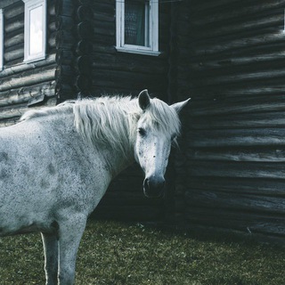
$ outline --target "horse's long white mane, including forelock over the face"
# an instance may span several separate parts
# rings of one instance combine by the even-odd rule
[[[52,108],[30,110],[21,120],[72,113],[77,132],[93,143],[109,143],[127,154],[134,147],[137,121],[144,119],[151,128],[179,134],[180,120],[176,111],[159,99],[151,99],[150,107],[142,111],[137,98],[103,96],[63,102]]]

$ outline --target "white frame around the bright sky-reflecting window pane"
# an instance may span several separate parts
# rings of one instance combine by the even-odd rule
[[[46,0],[22,0],[25,3],[25,48],[24,48],[24,62],[41,61],[45,59],[46,49]],[[30,30],[30,12],[37,7],[43,7],[42,24],[43,24],[43,50],[40,53],[29,53],[29,30]]]

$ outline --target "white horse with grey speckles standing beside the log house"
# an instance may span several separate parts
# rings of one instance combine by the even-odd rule
[[[73,284],[87,216],[124,168],[140,164],[159,196],[178,112],[151,99],[102,97],[28,111],[0,129],[0,236],[41,232],[46,284]]]

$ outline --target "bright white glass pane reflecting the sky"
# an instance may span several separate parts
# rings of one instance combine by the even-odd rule
[[[43,37],[43,6],[39,6],[29,12],[29,55],[43,52]]]

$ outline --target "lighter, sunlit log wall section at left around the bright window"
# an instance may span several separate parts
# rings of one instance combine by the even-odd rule
[[[4,69],[0,71],[0,126],[14,124],[37,103],[55,104],[55,13],[47,3],[47,56],[43,61],[24,63],[24,3],[3,1]],[[2,35],[1,35],[2,36]]]

